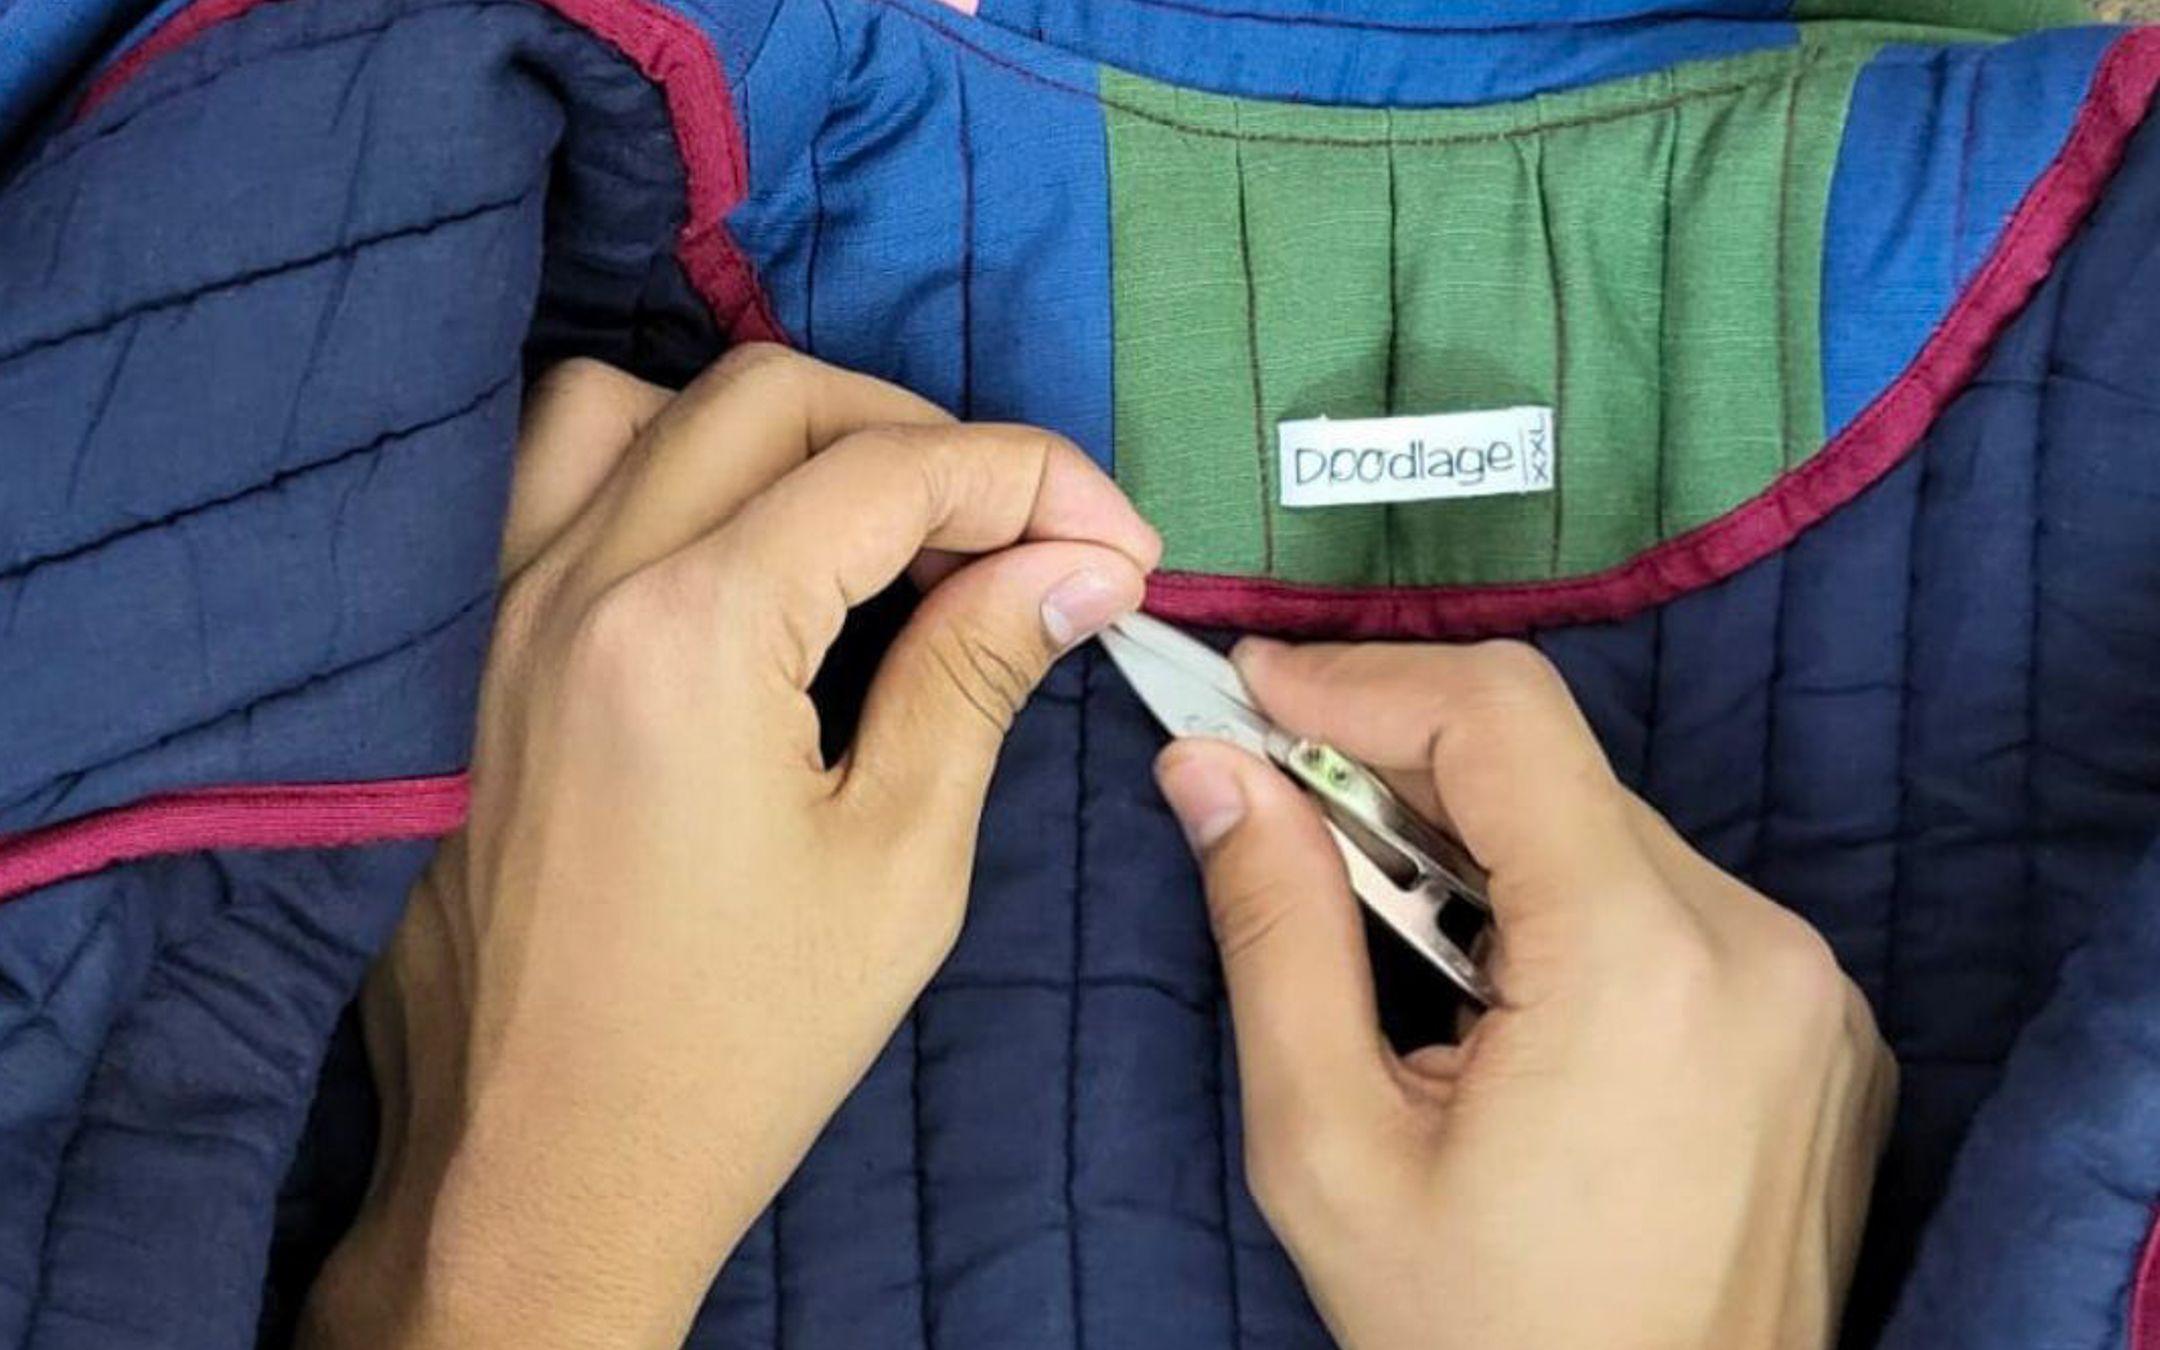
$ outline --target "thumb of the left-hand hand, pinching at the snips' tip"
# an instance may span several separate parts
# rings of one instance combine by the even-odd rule
[[[1140,568],[1104,544],[1017,544],[940,581],[870,680],[847,788],[963,810],[972,827],[1004,732],[1050,663],[1138,609]]]

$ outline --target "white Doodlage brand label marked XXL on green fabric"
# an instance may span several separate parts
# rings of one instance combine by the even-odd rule
[[[1283,505],[1365,505],[1551,492],[1551,408],[1434,417],[1313,417],[1277,426]]]

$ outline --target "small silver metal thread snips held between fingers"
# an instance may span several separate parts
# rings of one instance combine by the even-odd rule
[[[1274,726],[1238,667],[1197,637],[1134,613],[1099,642],[1173,737],[1229,741],[1290,773],[1326,816],[1356,899],[1458,989],[1495,1004],[1493,983],[1464,950],[1493,920],[1490,879],[1469,849],[1365,765]]]

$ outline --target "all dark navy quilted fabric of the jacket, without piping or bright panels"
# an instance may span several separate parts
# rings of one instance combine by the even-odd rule
[[[741,6],[730,73],[819,9]],[[721,348],[674,136],[544,6],[285,0],[6,171],[0,834],[464,762],[523,376]],[[875,207],[823,190],[836,240]],[[2125,1344],[2160,1186],[2154,296],[2160,127],[1884,482],[1719,585],[1536,635],[1622,775],[1821,924],[1901,1054],[1853,1344]],[[816,313],[821,352],[883,333]],[[1000,413],[1050,397],[978,378]],[[1052,674],[959,950],[691,1344],[1326,1344],[1242,1184],[1156,747],[1095,654]],[[367,1169],[339,1017],[423,858],[192,853],[0,907],[0,1344],[289,1326]]]

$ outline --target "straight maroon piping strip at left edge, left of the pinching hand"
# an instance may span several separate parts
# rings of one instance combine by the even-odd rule
[[[464,823],[469,797],[464,773],[145,797],[78,821],[0,834],[0,901],[156,853],[434,838]]]

